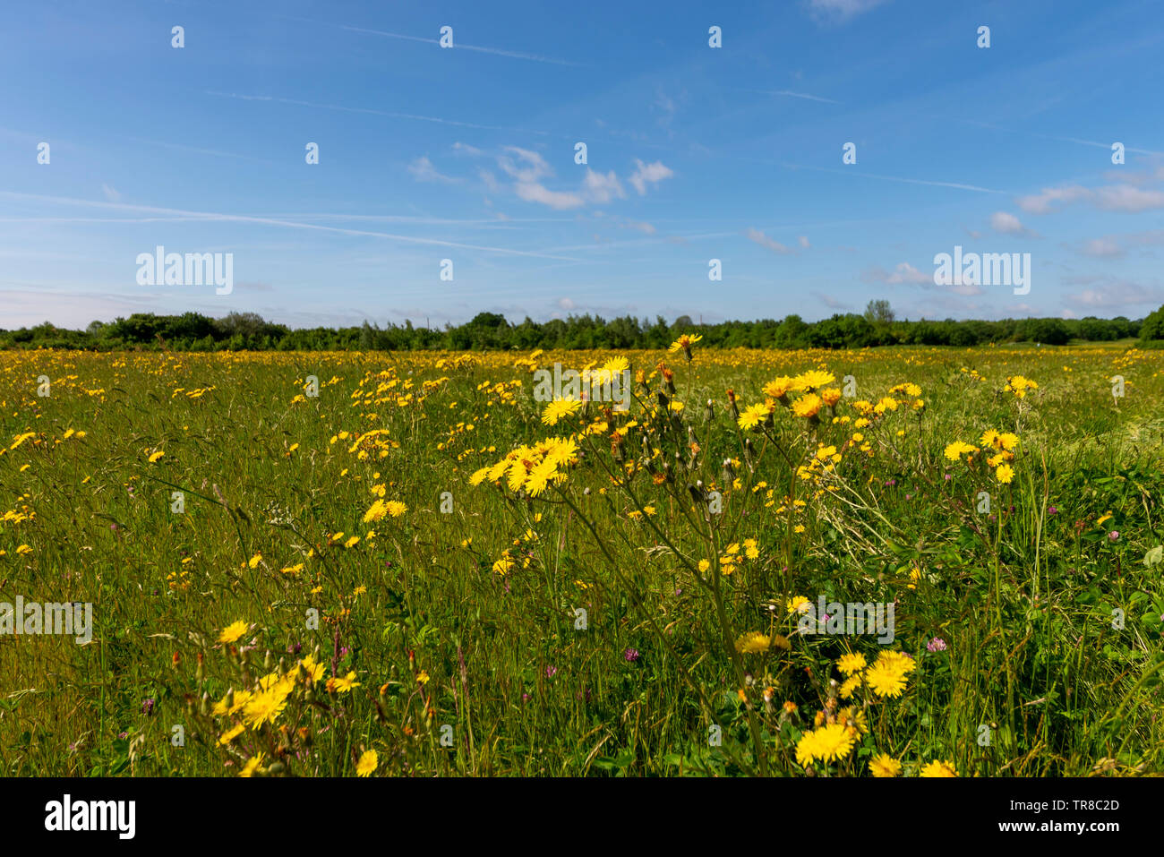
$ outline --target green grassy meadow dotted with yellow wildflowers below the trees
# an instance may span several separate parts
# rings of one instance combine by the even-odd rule
[[[0,602],[92,604],[0,614],[0,763],[1158,772],[1162,396],[1122,346],[0,352]]]

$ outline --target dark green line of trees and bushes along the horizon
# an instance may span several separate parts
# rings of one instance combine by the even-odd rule
[[[688,316],[652,323],[623,316],[610,320],[580,314],[512,324],[494,312],[442,328],[416,327],[412,321],[381,327],[364,321],[354,327],[292,330],[264,320],[253,312],[232,312],[210,318],[197,312],[180,316],[134,313],[114,321],[93,321],[84,331],[65,330],[45,321],[35,327],[0,330],[0,348],[85,348],[215,350],[504,350],[533,348],[666,348],[680,333],[697,333],[705,348],[866,348],[890,345],[968,347],[988,342],[1115,341],[1140,338],[1164,345],[1164,307],[1144,319],[1022,318],[943,321],[897,319],[888,302],[871,300],[861,314],[835,314],[819,321],[800,316],[782,320],[721,321],[700,324]]]

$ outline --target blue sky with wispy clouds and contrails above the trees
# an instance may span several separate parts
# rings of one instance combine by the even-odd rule
[[[47,1],[6,19],[0,327],[1164,303],[1158,0]],[[233,254],[234,290],[139,285],[158,245]],[[954,246],[1031,254],[1030,292],[935,285]]]

